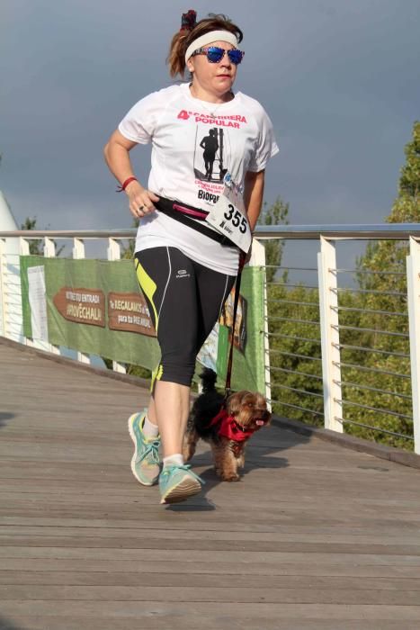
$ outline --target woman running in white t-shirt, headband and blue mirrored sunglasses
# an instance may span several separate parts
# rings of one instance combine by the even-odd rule
[[[202,480],[182,455],[195,359],[234,284],[239,252],[261,211],[265,166],[279,150],[262,105],[233,91],[242,39],[224,15],[196,23],[194,11],[183,14],[168,65],[171,76],[187,71],[189,79],[141,98],[104,148],[140,220],[135,264],[161,349],[148,408],[129,419],[131,470],[143,485],[159,482],[161,503],[201,491]],[[210,162],[207,177],[198,173],[201,139],[217,138],[210,130],[222,130],[223,181],[209,181]],[[151,170],[142,185],[130,151],[149,142]],[[229,191],[243,203],[233,203]]]

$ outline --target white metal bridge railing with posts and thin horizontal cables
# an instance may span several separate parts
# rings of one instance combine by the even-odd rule
[[[22,336],[19,256],[29,253],[32,239],[43,240],[48,257],[55,255],[55,240],[70,239],[78,258],[85,257],[85,242],[105,240],[106,257],[116,260],[121,241],[134,237],[134,229],[0,232],[0,334],[59,351]],[[266,239],[317,241],[316,264],[265,266]],[[352,240],[401,241],[409,247],[407,267],[340,268],[337,248]],[[337,432],[414,446],[420,454],[420,224],[258,226],[255,241],[251,263],[275,272],[265,285],[261,330],[274,410]],[[19,243],[14,251],[7,250],[11,242]],[[305,274],[305,282],[289,279],[296,273]],[[343,286],[348,276],[353,284]],[[378,278],[386,280],[380,288]],[[90,361],[82,353],[77,358]],[[125,369],[115,362],[113,368]]]

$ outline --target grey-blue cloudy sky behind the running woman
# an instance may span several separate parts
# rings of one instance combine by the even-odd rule
[[[165,58],[189,8],[244,31],[236,88],[264,105],[281,148],[265,201],[289,202],[291,224],[382,222],[420,119],[420,0],[4,0],[0,189],[18,224],[131,226],[103,145],[171,84]],[[131,155],[145,182],[149,149]]]

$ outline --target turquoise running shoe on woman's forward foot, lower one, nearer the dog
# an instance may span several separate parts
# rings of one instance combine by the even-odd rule
[[[179,503],[198,494],[204,481],[190,470],[189,464],[169,464],[159,477],[161,503]]]

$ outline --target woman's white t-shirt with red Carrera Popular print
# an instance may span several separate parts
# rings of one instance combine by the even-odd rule
[[[187,83],[142,98],[119,130],[133,142],[152,143],[150,191],[203,210],[218,201],[226,173],[243,190],[246,172],[263,170],[279,151],[272,122],[255,99],[237,92],[228,103],[208,103],[192,97]],[[237,247],[222,246],[155,211],[140,220],[136,251],[162,246],[237,275]]]

